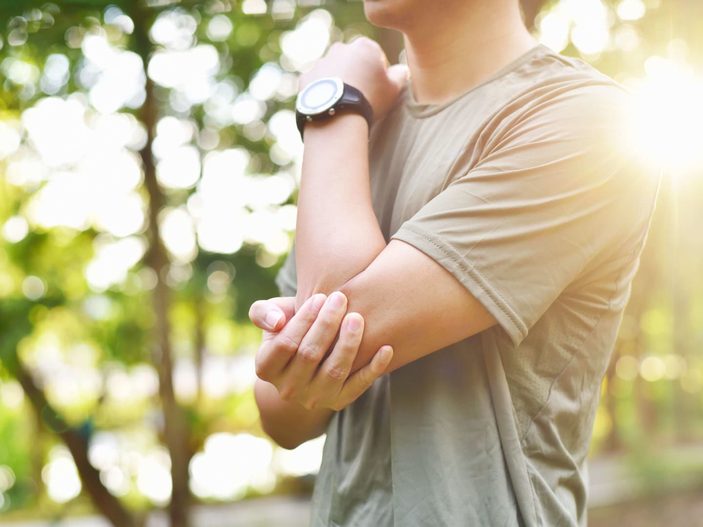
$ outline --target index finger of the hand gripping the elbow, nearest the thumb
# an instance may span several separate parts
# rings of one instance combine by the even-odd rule
[[[325,302],[325,295],[314,294],[307,299],[283,330],[270,340],[264,340],[254,360],[257,375],[264,381],[275,382],[295,355],[303,337],[317,318]],[[276,386],[278,387],[278,386]]]

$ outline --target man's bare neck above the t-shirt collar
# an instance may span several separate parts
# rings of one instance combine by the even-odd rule
[[[517,2],[516,2],[517,4]],[[423,23],[405,32],[413,96],[443,103],[477,86],[536,46],[515,8],[470,2],[451,25]],[[426,21],[425,21],[426,22]]]

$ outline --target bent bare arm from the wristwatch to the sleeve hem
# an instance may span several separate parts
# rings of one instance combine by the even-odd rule
[[[496,323],[448,271],[415,247],[386,244],[370,197],[368,130],[341,115],[305,127],[298,198],[296,304],[340,290],[366,321],[352,371],[379,346],[395,350],[387,372]]]

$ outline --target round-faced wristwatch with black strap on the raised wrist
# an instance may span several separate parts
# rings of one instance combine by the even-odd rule
[[[295,121],[300,137],[306,122],[328,119],[340,110],[361,114],[370,130],[373,110],[363,93],[354,86],[345,84],[339,77],[325,77],[306,86],[295,102]]]

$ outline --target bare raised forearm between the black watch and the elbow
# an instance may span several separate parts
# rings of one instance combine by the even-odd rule
[[[386,247],[368,180],[368,126],[338,115],[305,126],[296,230],[297,306],[330,294]]]

